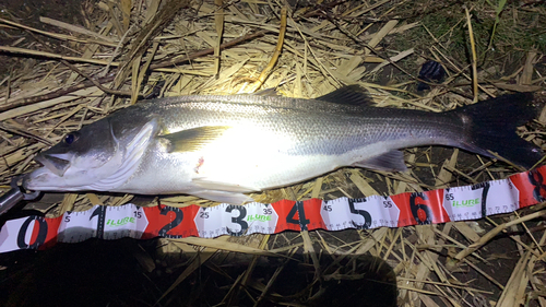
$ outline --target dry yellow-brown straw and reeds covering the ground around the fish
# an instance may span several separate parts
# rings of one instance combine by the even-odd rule
[[[50,25],[49,31],[29,27],[15,19],[0,19],[5,31],[32,33],[10,46],[0,46],[4,55],[23,56],[0,80],[0,180],[4,188],[12,176],[35,168],[34,155],[59,142],[64,133],[153,91],[161,96],[177,96],[276,87],[285,96],[317,97],[342,85],[360,84],[378,106],[440,111],[497,96],[506,90],[546,88],[546,43],[539,40],[544,25],[543,34],[532,36],[537,40],[531,46],[536,48],[519,49],[499,37],[510,20],[521,27],[541,26],[536,20],[544,21],[546,11],[532,1],[502,8],[494,42],[499,42],[496,48],[508,54],[498,56],[490,51],[492,56],[487,61],[479,54],[484,48],[479,33],[474,39],[471,24],[480,22],[483,26],[495,21],[496,8],[488,2],[466,3],[466,8],[426,1],[416,1],[413,7],[407,1],[317,1],[306,7],[295,7],[293,2],[298,1],[288,1],[292,5],[282,1],[159,2],[86,3],[82,7],[87,16],[83,26],[40,19]],[[424,23],[434,14],[449,14],[446,21],[456,22],[441,24],[451,29],[437,35],[430,24]],[[426,36],[415,36],[415,31],[423,31]],[[466,33],[467,49],[456,46],[458,31]],[[502,35],[510,37],[509,33]],[[48,44],[29,38],[33,36],[55,38],[55,44],[62,48],[52,50]],[[407,42],[400,43],[404,37]],[[451,48],[465,49],[468,57],[456,56]],[[447,68],[448,78],[422,96],[415,93],[417,69],[430,58]],[[521,129],[527,141],[543,145],[545,114]],[[273,202],[394,194],[506,178],[515,172],[507,164],[438,147],[406,150],[406,161],[412,166],[406,174],[341,169],[252,197]],[[97,203],[117,205],[131,199],[132,196],[70,193],[35,208],[58,215],[67,210],[86,210]],[[188,196],[161,201],[175,206],[214,205]],[[536,206],[478,222],[405,228],[161,239],[152,258],[167,259],[167,267],[173,265],[170,270],[179,275],[157,299],[162,306],[186,302],[176,298],[180,295],[175,291],[179,284],[195,282],[191,276],[205,269],[229,275],[233,272],[222,265],[232,261],[246,267],[230,276],[232,284],[217,303],[321,306],[324,302],[339,302],[328,300],[328,288],[335,288],[331,281],[353,287],[346,282],[365,280],[369,272],[382,272],[373,279],[388,283],[388,274],[381,271],[383,262],[377,260],[382,259],[396,275],[399,306],[546,306],[546,233],[536,220],[544,215],[541,210]],[[174,255],[186,256],[183,269],[177,270]],[[263,255],[283,257],[272,264],[275,270],[268,278],[260,279],[257,271]],[[376,260],[364,259],[363,255]],[[286,282],[276,280],[289,265],[286,257],[297,258],[298,268],[310,276],[309,287],[304,286],[292,296],[281,295],[274,286],[275,282]],[[141,258],[141,263],[151,261],[150,256]],[[155,265],[146,268],[155,270]],[[341,290],[335,288],[335,293]]]

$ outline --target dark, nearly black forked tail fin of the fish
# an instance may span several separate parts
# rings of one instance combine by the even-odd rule
[[[533,94],[518,93],[487,99],[452,111],[465,126],[464,147],[485,156],[494,152],[515,165],[531,168],[544,152],[515,133],[538,113]],[[490,152],[489,152],[490,151]]]

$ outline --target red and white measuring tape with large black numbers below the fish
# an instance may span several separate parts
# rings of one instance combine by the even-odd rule
[[[88,238],[213,238],[477,220],[545,201],[545,177],[546,166],[542,166],[502,180],[390,197],[282,200],[245,205],[223,203],[212,208],[194,204],[185,208],[141,208],[132,203],[95,205],[87,211],[69,211],[55,219],[32,215],[7,221],[0,231],[0,252],[46,249],[56,243],[79,243]]]

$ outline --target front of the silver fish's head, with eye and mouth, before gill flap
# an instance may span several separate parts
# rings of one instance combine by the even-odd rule
[[[35,161],[43,167],[31,173],[32,190],[76,190],[107,178],[121,165],[123,152],[108,118],[70,132]]]

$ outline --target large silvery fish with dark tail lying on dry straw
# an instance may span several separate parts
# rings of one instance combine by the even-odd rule
[[[537,116],[518,93],[443,113],[375,107],[359,86],[314,99],[189,95],[139,102],[35,157],[35,191],[191,194],[225,203],[341,167],[404,172],[401,150],[424,145],[499,155],[530,168],[544,152],[517,134]]]

